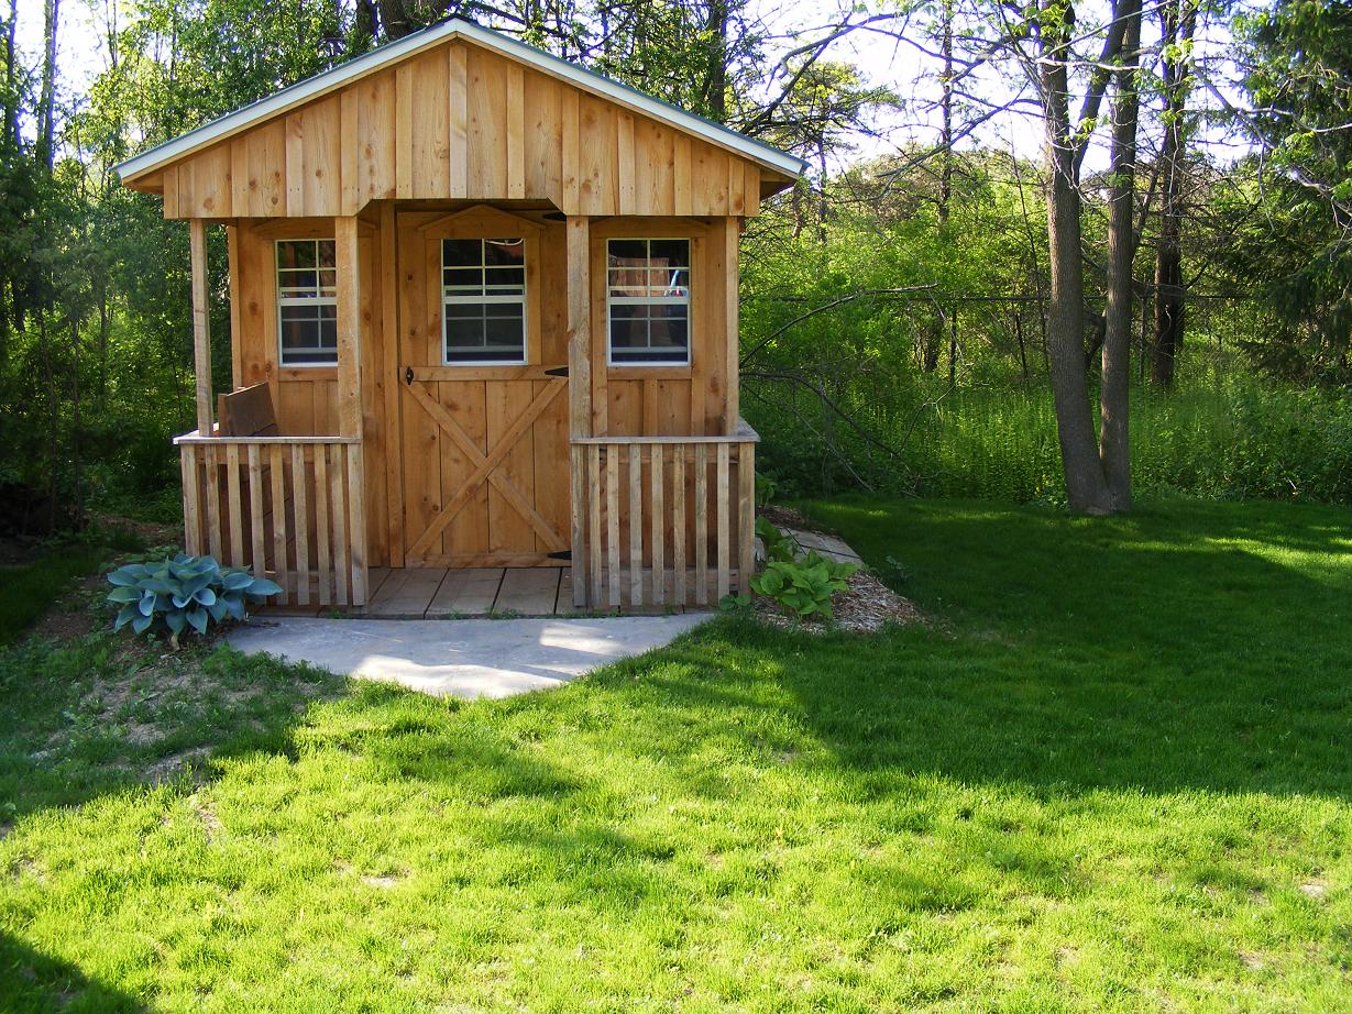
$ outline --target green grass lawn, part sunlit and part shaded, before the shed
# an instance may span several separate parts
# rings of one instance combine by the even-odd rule
[[[475,704],[0,653],[0,1009],[1352,1009],[1345,510],[813,510],[936,627]]]

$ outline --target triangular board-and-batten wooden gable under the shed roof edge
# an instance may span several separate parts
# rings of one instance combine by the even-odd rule
[[[761,177],[726,149],[453,39],[131,185],[162,192],[170,219],[354,215],[391,199],[717,218],[757,214]],[[767,170],[765,184],[781,181]]]

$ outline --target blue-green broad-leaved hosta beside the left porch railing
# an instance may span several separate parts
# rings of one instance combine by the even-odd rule
[[[108,575],[108,602],[119,606],[112,629],[128,623],[138,634],[162,626],[174,644],[192,627],[207,633],[211,623],[243,619],[250,604],[281,591],[266,577],[254,577],[242,566],[222,566],[211,556],[173,557],[127,564]]]

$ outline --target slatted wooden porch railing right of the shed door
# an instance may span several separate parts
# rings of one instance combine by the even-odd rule
[[[726,437],[573,438],[576,604],[707,606],[745,589],[758,439],[745,420]]]

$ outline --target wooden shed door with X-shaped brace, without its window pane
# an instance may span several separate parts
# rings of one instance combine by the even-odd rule
[[[566,565],[566,358],[545,319],[545,233],[492,208],[400,214],[399,291],[407,566]],[[448,364],[445,239],[522,238],[526,362]]]

